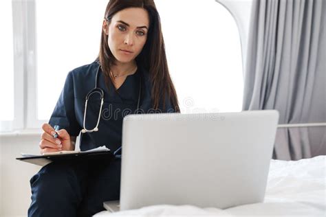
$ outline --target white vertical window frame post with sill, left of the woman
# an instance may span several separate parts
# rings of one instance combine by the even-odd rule
[[[9,124],[6,126],[5,130],[40,128],[47,120],[37,118],[35,1],[12,1],[12,14],[14,120],[11,126]]]

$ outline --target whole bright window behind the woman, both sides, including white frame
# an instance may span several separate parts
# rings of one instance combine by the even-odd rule
[[[108,0],[0,1],[0,131],[40,128],[67,73],[98,56]],[[241,111],[239,30],[214,0],[155,0],[182,113]]]

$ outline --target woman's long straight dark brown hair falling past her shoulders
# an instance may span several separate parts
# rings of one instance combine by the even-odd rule
[[[110,0],[105,10],[107,21],[111,21],[112,16],[125,8],[144,8],[149,13],[149,32],[142,52],[135,58],[137,65],[144,67],[149,72],[152,90],[151,99],[153,109],[158,109],[160,102],[165,108],[165,99],[171,100],[173,109],[180,112],[177,102],[177,93],[171,80],[169,68],[166,60],[163,34],[161,30],[160,15],[157,12],[153,0]],[[100,53],[98,59],[105,77],[112,80],[110,67],[115,64],[116,58],[109,49],[107,35],[102,30],[100,41]]]

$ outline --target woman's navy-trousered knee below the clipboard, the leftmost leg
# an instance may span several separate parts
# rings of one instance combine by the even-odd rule
[[[30,179],[32,203],[28,215],[76,216],[86,176],[87,170],[80,165],[64,162],[45,165]]]

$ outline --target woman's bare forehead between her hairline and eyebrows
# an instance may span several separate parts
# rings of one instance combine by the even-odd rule
[[[116,21],[124,21],[131,27],[138,27],[146,25],[149,26],[149,14],[143,8],[126,8],[120,10],[112,17],[113,23]]]

